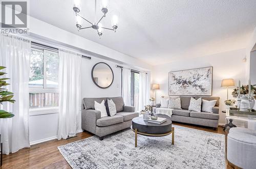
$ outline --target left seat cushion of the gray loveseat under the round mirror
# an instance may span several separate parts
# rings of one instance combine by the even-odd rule
[[[107,116],[107,117],[98,119],[96,121],[96,125],[99,127],[104,127],[104,126],[110,126],[110,125],[122,123],[122,122],[123,122],[123,117],[119,115],[115,115],[115,116]]]

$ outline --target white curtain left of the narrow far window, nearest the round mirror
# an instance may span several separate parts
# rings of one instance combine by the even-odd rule
[[[122,97],[124,101],[124,105],[131,105],[131,70],[123,69],[123,81],[122,81]]]

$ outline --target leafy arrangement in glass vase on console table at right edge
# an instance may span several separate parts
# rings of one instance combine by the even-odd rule
[[[234,98],[238,98],[238,93],[239,93],[239,88],[235,88],[232,92],[232,96]],[[242,85],[242,87],[240,87],[240,93],[241,93],[241,105],[240,108],[241,109],[247,109],[249,107],[249,103],[248,103],[248,93],[249,93],[249,86],[248,85]],[[256,99],[256,86],[255,85],[251,85],[251,96],[252,96],[252,102],[251,102],[251,107],[254,106],[255,104],[255,99]]]

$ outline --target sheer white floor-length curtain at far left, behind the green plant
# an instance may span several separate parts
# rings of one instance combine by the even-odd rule
[[[6,89],[14,93],[13,99],[16,100],[14,104],[3,102],[0,107],[15,115],[10,119],[0,119],[4,154],[30,147],[28,125],[30,46],[29,40],[0,35],[0,66],[6,67],[1,71],[8,73],[4,77],[10,78],[6,81],[11,85],[6,86]]]

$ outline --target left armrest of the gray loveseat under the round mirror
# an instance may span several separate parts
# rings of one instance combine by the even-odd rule
[[[83,109],[81,125],[83,130],[91,133],[96,133],[96,121],[101,118],[101,113],[98,110]]]

